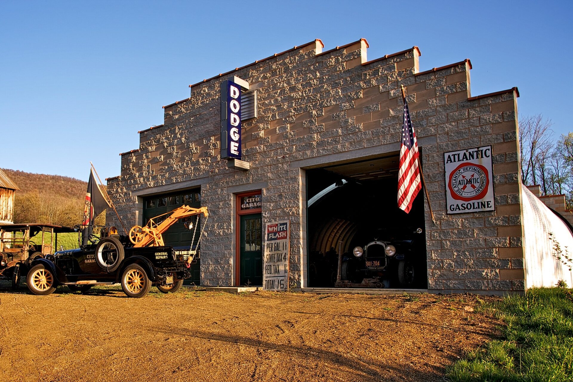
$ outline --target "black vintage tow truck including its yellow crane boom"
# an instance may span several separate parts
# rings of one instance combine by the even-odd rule
[[[168,216],[167,216],[168,215]],[[197,215],[209,216],[206,207],[182,206],[150,219],[146,226],[134,226],[128,235],[116,229],[104,230],[101,237],[89,235],[89,243],[78,249],[57,251],[32,261],[28,288],[37,295],[47,295],[58,285],[74,292],[85,292],[94,285],[121,283],[129,297],[145,296],[151,286],[160,292],[176,292],[185,278],[191,277],[190,264],[197,253],[193,243],[189,250],[175,250],[163,245],[162,234],[177,220]],[[195,232],[198,224],[195,224]],[[193,225],[186,225],[193,229]],[[203,225],[199,240],[203,234]],[[194,232],[194,236],[195,236]]]

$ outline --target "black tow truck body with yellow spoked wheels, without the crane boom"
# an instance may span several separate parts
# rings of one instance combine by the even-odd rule
[[[34,260],[26,279],[30,292],[47,295],[57,285],[85,292],[93,285],[121,283],[127,296],[143,297],[151,286],[163,293],[176,292],[183,279],[191,276],[186,262],[190,251],[170,246],[134,248],[127,237],[119,235],[90,239],[90,244],[79,249]]]

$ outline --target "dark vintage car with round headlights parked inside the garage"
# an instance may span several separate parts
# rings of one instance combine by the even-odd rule
[[[421,254],[421,238],[415,235],[422,232],[418,228],[407,239],[374,239],[365,246],[356,246],[352,254],[343,257],[342,281],[337,286],[388,288],[397,283],[401,288],[412,288],[416,282],[415,264]]]

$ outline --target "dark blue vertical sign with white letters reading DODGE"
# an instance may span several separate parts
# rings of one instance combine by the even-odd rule
[[[241,86],[221,83],[221,159],[241,159]]]

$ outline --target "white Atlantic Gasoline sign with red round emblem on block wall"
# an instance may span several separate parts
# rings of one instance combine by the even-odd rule
[[[492,147],[444,153],[448,214],[495,210]]]

